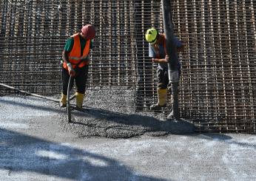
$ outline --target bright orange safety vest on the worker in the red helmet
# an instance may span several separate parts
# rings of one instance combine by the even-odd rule
[[[79,33],[75,33],[74,35],[71,35],[70,37],[74,38],[74,44],[71,52],[68,53],[68,58],[70,63],[73,66],[73,69],[75,69],[75,66],[78,65],[79,68],[90,64],[88,61],[82,61],[81,62],[81,44],[80,44],[80,38],[79,38]],[[87,57],[90,51],[90,39],[87,40],[87,43],[85,44],[84,50],[83,50],[83,55],[82,57]],[[67,63],[63,63],[64,69],[67,69]]]

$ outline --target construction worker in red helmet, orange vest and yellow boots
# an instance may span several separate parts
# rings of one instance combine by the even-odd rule
[[[63,67],[60,106],[67,106],[67,86],[70,76],[73,77],[70,89],[76,85],[75,97],[76,107],[81,109],[84,100],[85,86],[87,82],[88,67],[90,64],[89,53],[92,49],[92,39],[95,37],[95,28],[87,24],[81,28],[79,33],[71,35],[62,52]]]

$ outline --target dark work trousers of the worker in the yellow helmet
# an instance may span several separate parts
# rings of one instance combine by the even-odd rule
[[[164,69],[157,68],[157,75],[158,75],[158,89],[169,89],[169,92],[172,94],[172,85],[169,83],[168,77],[168,67]],[[181,68],[178,69],[178,76],[181,75]]]

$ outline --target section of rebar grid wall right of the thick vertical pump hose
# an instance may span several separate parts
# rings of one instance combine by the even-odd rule
[[[175,1],[178,35],[186,41],[183,117],[221,132],[255,132],[255,6],[248,0]]]

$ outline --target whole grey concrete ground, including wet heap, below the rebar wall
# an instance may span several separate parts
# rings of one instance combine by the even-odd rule
[[[87,93],[74,123],[58,103],[0,97],[0,180],[256,180],[255,134],[135,112],[129,89]]]

